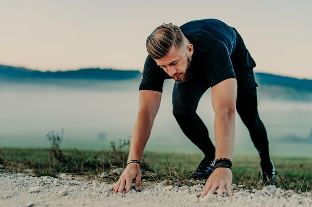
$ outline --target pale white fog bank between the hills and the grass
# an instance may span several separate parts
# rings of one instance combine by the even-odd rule
[[[64,130],[62,148],[110,148],[131,136],[138,111],[140,79],[131,81],[28,80],[0,83],[0,147],[49,147],[46,135]],[[181,132],[172,115],[172,80],[166,80],[161,105],[146,150],[200,153]],[[266,91],[267,93],[267,91]],[[266,126],[271,154],[310,156],[312,104],[263,97],[258,109]],[[210,89],[197,113],[214,142]],[[304,141],[283,141],[293,135]],[[256,155],[246,127],[236,116],[235,154]],[[306,139],[305,139],[306,138]]]

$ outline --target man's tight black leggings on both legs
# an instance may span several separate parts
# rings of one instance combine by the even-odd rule
[[[260,156],[269,159],[269,142],[266,129],[258,114],[257,89],[253,69],[236,72],[236,109],[249,130],[250,137]],[[181,130],[206,156],[214,157],[215,147],[208,130],[196,113],[198,102],[210,87],[207,78],[192,78],[175,83],[172,92],[173,115]],[[262,157],[262,156],[261,156]]]

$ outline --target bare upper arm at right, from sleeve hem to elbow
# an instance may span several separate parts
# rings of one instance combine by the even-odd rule
[[[237,82],[235,78],[225,79],[211,88],[211,102],[215,113],[235,111]]]

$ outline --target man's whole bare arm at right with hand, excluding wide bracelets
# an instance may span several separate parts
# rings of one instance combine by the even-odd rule
[[[237,83],[235,78],[223,80],[211,89],[212,107],[215,112],[214,134],[216,140],[216,159],[233,159],[235,137],[235,105]],[[208,178],[202,196],[213,194],[219,189],[218,195],[227,187],[231,195],[232,171],[229,168],[216,168]]]

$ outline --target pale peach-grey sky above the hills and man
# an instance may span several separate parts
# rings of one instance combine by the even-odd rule
[[[143,70],[162,23],[235,27],[256,72],[312,79],[311,0],[0,0],[0,65],[42,71]]]

